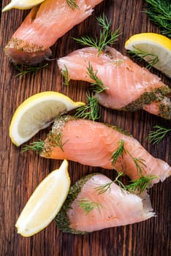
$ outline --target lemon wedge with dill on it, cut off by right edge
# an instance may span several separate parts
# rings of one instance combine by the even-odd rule
[[[171,39],[156,33],[134,34],[126,41],[125,48],[149,53],[143,58],[149,64],[156,56],[157,61],[153,67],[171,78]]]

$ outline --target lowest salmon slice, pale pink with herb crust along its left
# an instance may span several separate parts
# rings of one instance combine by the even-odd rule
[[[77,181],[70,188],[64,206],[56,216],[59,229],[67,233],[85,234],[142,222],[155,215],[146,192],[142,199],[113,183],[109,190],[99,194],[98,188],[110,182],[110,178],[100,173]]]

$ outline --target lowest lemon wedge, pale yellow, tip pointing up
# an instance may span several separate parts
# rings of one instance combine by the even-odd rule
[[[34,190],[15,224],[18,233],[33,236],[47,227],[60,211],[69,187],[68,162],[64,160]]]

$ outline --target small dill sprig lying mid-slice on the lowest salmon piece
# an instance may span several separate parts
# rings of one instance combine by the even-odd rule
[[[87,198],[82,198],[77,200],[78,206],[83,209],[83,211],[89,212],[94,210],[94,208],[97,208],[100,211],[100,208],[102,208],[102,204],[98,202],[91,201]]]

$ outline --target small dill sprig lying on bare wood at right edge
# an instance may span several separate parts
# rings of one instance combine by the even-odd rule
[[[152,144],[158,144],[168,132],[171,132],[171,129],[167,129],[159,125],[156,125],[153,128],[156,130],[149,132],[148,136],[146,137],[146,140],[149,140]]]

